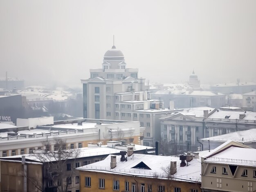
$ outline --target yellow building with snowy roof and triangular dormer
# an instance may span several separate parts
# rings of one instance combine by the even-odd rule
[[[188,164],[183,166],[178,157],[120,153],[121,156],[109,155],[103,161],[77,168],[80,192],[201,191],[199,159],[183,161],[183,165]]]

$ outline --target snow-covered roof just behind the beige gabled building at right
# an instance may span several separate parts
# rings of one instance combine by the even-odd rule
[[[256,129],[232,132],[224,135],[202,138],[200,141],[237,141],[240,143],[256,141]]]

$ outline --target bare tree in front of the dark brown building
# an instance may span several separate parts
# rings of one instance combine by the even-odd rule
[[[50,143],[48,141],[43,142],[43,145],[46,148],[44,153],[31,155],[44,163],[47,181],[53,183],[58,192],[67,192],[72,176],[76,175],[72,164],[75,165],[80,150],[67,149],[65,140],[58,137],[54,138],[54,151],[49,150]]]

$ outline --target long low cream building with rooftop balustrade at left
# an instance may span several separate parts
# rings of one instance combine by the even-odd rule
[[[67,148],[87,147],[88,142],[123,140],[140,144],[140,127],[137,121],[114,121],[98,119],[76,119],[53,121],[53,117],[18,119],[18,127],[0,130],[0,156],[30,154],[34,149],[45,149],[43,142],[49,142],[54,150],[55,138],[65,140]]]

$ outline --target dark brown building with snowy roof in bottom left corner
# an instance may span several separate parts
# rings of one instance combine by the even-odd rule
[[[152,147],[124,145],[121,141],[110,141],[107,146],[101,146],[101,143],[89,143],[89,146],[79,150],[54,152],[34,150],[33,154],[2,157],[0,159],[1,190],[79,192],[81,180],[78,171],[74,168],[101,161],[109,154],[119,155],[121,150],[136,154],[154,152]],[[56,158],[59,156],[61,157]]]

